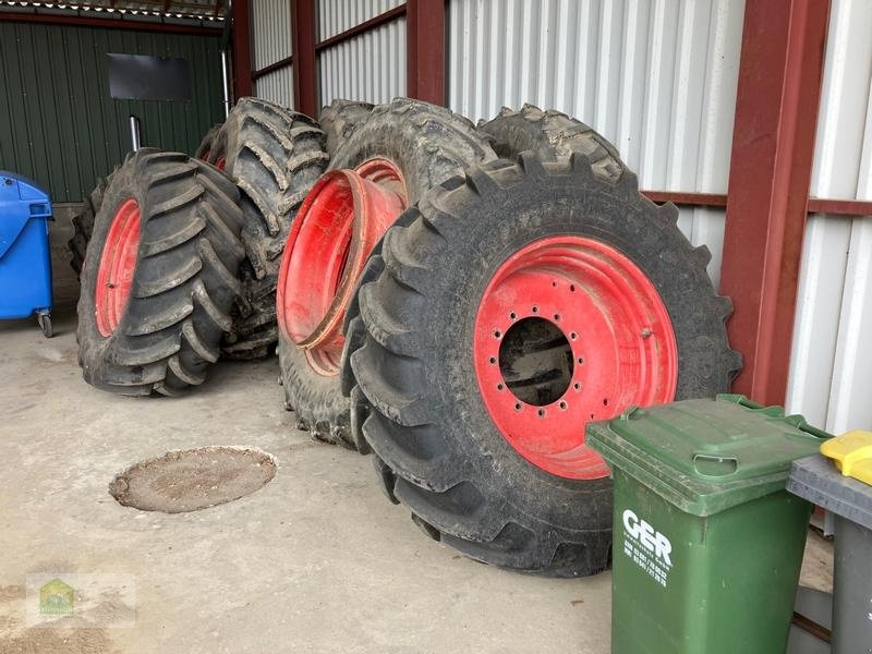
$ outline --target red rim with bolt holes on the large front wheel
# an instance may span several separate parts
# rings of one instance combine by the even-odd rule
[[[675,397],[678,347],[659,293],[593,239],[550,237],[516,252],[488,283],[474,334],[494,424],[524,459],[559,476],[608,475],[584,444],[589,421]]]

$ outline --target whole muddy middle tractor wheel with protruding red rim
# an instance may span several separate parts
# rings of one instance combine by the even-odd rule
[[[289,270],[301,270],[310,275],[312,270],[306,269],[306,262],[332,262],[341,259],[342,256],[351,263],[343,267],[342,281],[338,286],[327,279],[335,274],[322,271],[320,268],[318,269],[320,278],[313,277],[306,280],[301,274],[294,274],[288,275],[284,286],[281,280],[279,282],[281,379],[286,405],[296,412],[300,428],[311,431],[319,440],[354,447],[349,428],[349,402],[342,396],[339,377],[339,361],[343,347],[340,327],[348,304],[338,301],[342,298],[348,298],[350,301],[356,286],[356,275],[363,268],[370,250],[384,230],[393,223],[403,206],[414,205],[431,189],[461,174],[470,165],[495,158],[488,138],[469,120],[444,107],[407,98],[396,99],[373,109],[366,122],[339,145],[330,161],[332,172],[325,175],[325,178],[331,175],[332,179],[327,179],[324,185],[319,182],[319,186],[312,191],[306,201],[307,204],[312,203],[312,208],[304,207],[301,210],[301,221],[294,227],[290,240],[294,244],[289,241],[282,272],[287,267]],[[355,225],[366,222],[370,231],[360,238],[355,235],[356,240],[350,244],[349,232],[344,232],[347,234],[344,237],[339,233],[341,220],[338,222],[332,218],[332,214],[328,215],[318,208],[323,206],[328,207],[329,211],[344,213],[350,216],[348,225],[352,223],[351,217],[356,209],[351,206],[351,194],[341,189],[337,190],[339,182],[358,184],[358,193],[365,196],[361,204],[375,202],[373,197],[366,195],[368,193],[377,195],[378,203],[382,203],[379,206],[383,207],[380,210],[367,209],[365,221],[361,216],[356,217],[359,222]],[[346,193],[349,199],[341,209],[337,209],[334,204],[328,203],[328,197],[340,193]],[[358,197],[360,199],[361,196]],[[387,204],[392,208],[384,210]],[[324,226],[319,221],[323,221],[324,226],[329,226],[329,229],[337,230],[337,234],[328,240],[324,251],[305,250],[303,244],[313,242],[315,237],[322,233]],[[374,227],[375,223],[378,223],[380,229]],[[324,230],[326,229],[328,227],[324,227]],[[349,256],[347,252],[353,252],[354,256]],[[334,286],[330,286],[331,283]],[[329,287],[337,290],[335,295],[326,298],[323,312],[314,317],[301,318],[300,312],[296,311],[294,315],[294,311],[299,310],[301,304],[312,307],[316,303],[299,302],[294,299],[312,287]],[[310,338],[312,330],[302,329],[300,326],[316,325],[318,320],[322,320],[320,325],[332,320],[337,337],[322,339],[320,342],[324,344],[311,346],[314,342]]]

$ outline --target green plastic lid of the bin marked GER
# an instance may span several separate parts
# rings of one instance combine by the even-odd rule
[[[790,463],[831,437],[801,415],[735,395],[631,408],[586,434],[610,468],[694,516],[783,491]]]

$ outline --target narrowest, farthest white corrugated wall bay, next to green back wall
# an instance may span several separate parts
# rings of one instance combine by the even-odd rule
[[[250,4],[250,11],[254,70],[290,57],[290,0],[256,0]],[[293,107],[293,68],[287,65],[255,80],[254,94],[265,100]]]

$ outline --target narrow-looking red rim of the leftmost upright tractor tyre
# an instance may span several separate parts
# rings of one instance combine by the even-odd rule
[[[97,330],[111,336],[128,307],[140,251],[140,205],[129,197],[116,211],[97,269],[94,311]]]

